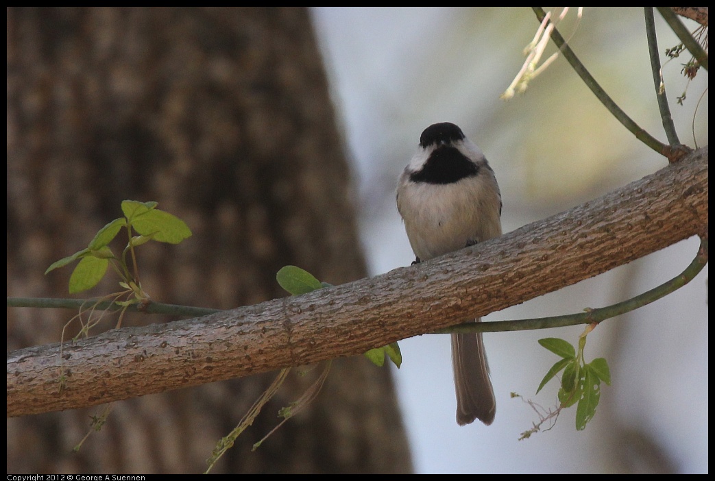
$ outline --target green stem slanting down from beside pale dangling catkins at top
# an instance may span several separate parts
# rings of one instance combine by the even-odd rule
[[[536,13],[536,17],[539,21],[542,21],[544,16],[546,16],[546,12],[544,12],[540,6],[532,6],[531,9],[533,9],[533,11]],[[606,94],[606,91],[604,91],[601,86],[598,85],[596,79],[594,79],[593,76],[588,72],[588,70],[586,70],[586,67],[581,64],[581,61],[578,60],[576,54],[574,54],[573,50],[571,50],[571,47],[566,44],[566,41],[563,39],[563,36],[558,33],[558,30],[556,28],[554,28],[551,32],[551,39],[553,39],[553,43],[556,44],[559,49],[561,49],[561,51],[563,52],[563,56],[566,57],[566,60],[569,64],[571,64],[571,67],[573,67],[578,76],[581,77],[581,79],[588,86],[588,88],[591,89],[594,95],[596,95],[596,98],[601,101],[601,104],[603,104],[603,106],[606,106],[606,109],[608,109],[608,111],[610,111],[611,114],[613,114],[613,116],[618,119],[618,122],[621,122],[621,124],[623,124],[623,126],[626,127],[628,131],[633,133],[633,135],[636,136],[636,139],[640,140],[651,149],[654,149],[654,151],[658,152],[659,154],[666,155],[669,152],[670,149],[666,148],[665,144],[659,142],[658,139],[651,136],[651,134],[646,132],[644,129],[641,129],[641,127],[639,127],[636,122],[633,122],[633,119],[626,115],[626,112],[621,110],[621,107],[619,107],[616,102],[614,102],[613,99],[611,99],[611,97]]]

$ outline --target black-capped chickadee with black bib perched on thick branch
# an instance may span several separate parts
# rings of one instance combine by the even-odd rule
[[[415,262],[501,235],[501,194],[494,171],[455,124],[427,127],[400,175],[398,211]],[[481,319],[475,319],[479,322]],[[494,420],[496,401],[482,334],[452,334],[457,422]]]

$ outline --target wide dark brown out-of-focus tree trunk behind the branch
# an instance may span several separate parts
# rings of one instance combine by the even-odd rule
[[[162,302],[230,308],[281,297],[275,272],[286,264],[332,284],[365,276],[305,9],[7,14],[9,296],[66,297],[71,267],[44,269],[120,217],[122,199],[155,200],[194,232],[139,249],[142,284]],[[73,314],[9,309],[8,350],[57,342]],[[122,325],[169,320],[136,314]],[[10,419],[8,472],[200,472],[272,377],[117,402],[76,455],[99,410]],[[334,362],[312,405],[251,452],[307,377],[289,378],[214,472],[411,470],[389,371],[362,357]]]

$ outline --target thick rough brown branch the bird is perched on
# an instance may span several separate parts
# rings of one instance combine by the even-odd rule
[[[365,352],[521,304],[708,226],[708,148],[477,246],[370,279],[7,357],[9,417],[75,409]],[[66,389],[58,392],[64,364]]]

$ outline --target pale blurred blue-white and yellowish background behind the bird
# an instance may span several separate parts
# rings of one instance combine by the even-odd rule
[[[598,104],[563,58],[511,101],[499,95],[523,62],[523,47],[538,23],[531,9],[319,8],[312,10],[325,55],[345,144],[358,187],[360,222],[372,274],[414,259],[395,208],[398,174],[420,133],[454,122],[478,144],[495,170],[509,232],[586,202],[666,165]],[[693,24],[686,24],[691,27]],[[656,12],[660,50],[676,41]],[[640,7],[585,9],[562,33],[593,76],[633,119],[665,141]],[[553,48],[550,50],[553,51]],[[664,66],[681,142],[694,146],[692,123],[706,91],[707,72],[686,88],[680,64]],[[708,96],[695,115],[696,140],[708,143]],[[603,307],[651,289],[679,274],[698,247],[689,239],[575,286],[490,314],[486,320],[523,319]],[[631,315],[606,322],[588,336],[586,355],[606,357],[613,386],[601,387],[601,405],[585,431],[574,412],[530,440],[521,432],[537,421],[518,392],[543,407],[556,389],[536,387],[557,358],[541,337],[576,342],[582,327],[548,332],[485,334],[495,392],[496,420],[458,427],[448,336],[400,342],[395,370],[415,469],[451,472],[623,472],[621,461],[648,459],[659,444],[678,472],[708,471],[708,325],[706,267],[694,282]],[[458,319],[455,319],[457,322]],[[552,389],[549,389],[549,388]],[[638,438],[641,439],[641,438]]]

